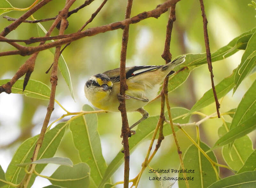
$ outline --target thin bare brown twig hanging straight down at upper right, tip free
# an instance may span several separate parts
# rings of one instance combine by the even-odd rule
[[[207,58],[207,63],[208,63],[208,69],[211,73],[211,81],[212,81],[212,91],[213,91],[213,95],[214,95],[214,99],[215,99],[215,103],[216,103],[216,110],[217,110],[217,114],[218,117],[220,118],[220,103],[218,101],[218,97],[216,94],[216,90],[215,90],[215,86],[214,86],[214,81],[213,81],[213,72],[212,72],[212,57],[211,57],[211,51],[210,51],[210,45],[209,45],[209,37],[208,37],[208,31],[207,31],[207,18],[206,18],[206,14],[204,11],[204,2],[203,0],[200,0],[200,5],[201,5],[201,11],[202,11],[202,17],[203,17],[203,24],[204,24],[204,43],[205,43],[205,48],[206,48],[206,58]]]

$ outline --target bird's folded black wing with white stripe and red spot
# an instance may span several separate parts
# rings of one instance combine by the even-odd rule
[[[162,66],[163,65],[146,65],[146,66],[125,67],[126,79],[132,78],[144,72],[154,71]],[[112,82],[119,82],[120,81],[119,73],[120,73],[120,68],[117,68],[117,69],[105,71],[102,74],[106,74]]]

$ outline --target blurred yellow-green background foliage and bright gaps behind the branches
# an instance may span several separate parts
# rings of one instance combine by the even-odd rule
[[[18,8],[30,6],[34,0],[9,0],[9,2]],[[149,11],[164,1],[134,1],[132,6],[132,15],[137,15],[143,11]],[[208,33],[210,40],[211,52],[216,51],[222,46],[228,44],[236,36],[255,27],[256,11],[247,4],[250,0],[205,0],[205,11],[208,19]],[[83,4],[84,1],[77,0],[71,9]],[[75,33],[90,17],[91,14],[102,3],[95,0],[89,6],[78,11],[68,18],[69,26],[65,31],[66,34]],[[37,11],[33,16],[36,19],[50,18],[56,15],[63,7],[63,0],[55,0],[45,5],[41,10]],[[109,0],[96,18],[87,28],[101,26],[108,23],[120,21],[124,19],[126,1]],[[169,12],[169,11],[168,11]],[[164,49],[166,24],[168,20],[168,12],[161,15],[158,19],[149,18],[142,20],[137,24],[130,25],[129,42],[127,51],[127,66],[133,65],[161,65],[164,60],[161,57]],[[5,13],[10,17],[19,18],[24,12],[12,11]],[[0,30],[11,22],[0,18]],[[52,21],[42,23],[46,30],[51,26]],[[119,67],[120,49],[122,42],[122,30],[109,31],[97,34],[92,37],[85,37],[78,41],[72,42],[62,53],[69,67],[72,84],[74,88],[75,100],[72,99],[68,86],[59,72],[58,86],[56,90],[56,99],[69,111],[79,111],[83,104],[89,103],[84,97],[83,87],[89,76],[101,73],[109,69]],[[55,29],[52,35],[58,35]],[[9,39],[28,39],[37,37],[38,32],[36,24],[23,23],[16,30],[7,35]],[[33,44],[37,45],[37,44]],[[13,47],[6,43],[1,43],[0,51],[9,51]],[[176,5],[176,21],[173,26],[171,53],[175,56],[186,53],[203,53],[205,52],[203,22],[201,16],[200,2],[198,0],[182,0]],[[238,66],[241,61],[243,52],[239,51],[235,55],[227,59],[213,63],[213,73],[215,85],[223,78],[229,76],[232,70]],[[28,56],[4,56],[0,57],[0,79],[12,78],[14,73],[23,64]],[[31,79],[39,80],[50,86],[50,74],[45,71],[52,64],[53,55],[48,51],[42,51],[36,60],[35,71],[31,75]],[[247,77],[237,92],[232,96],[229,93],[224,97],[221,103],[221,112],[235,108],[240,102],[245,91],[249,88],[256,77],[255,73]],[[185,107],[190,109],[202,95],[211,88],[210,73],[206,64],[195,69],[190,74],[188,80],[169,94],[172,106]],[[36,135],[41,129],[43,119],[46,113],[48,101],[27,98],[18,94],[0,95],[0,162],[4,170],[6,170],[13,153],[21,142],[31,135]],[[160,100],[150,103],[145,107],[150,116],[159,115]],[[215,104],[209,105],[202,109],[205,114],[211,114],[215,111]],[[55,104],[55,110],[51,117],[51,122],[64,114],[64,111]],[[140,118],[137,112],[129,113],[128,120],[132,124]],[[192,116],[191,121],[197,121],[199,117]],[[226,117],[228,120],[228,117]],[[121,116],[119,113],[101,113],[98,114],[98,131],[100,133],[103,156],[109,163],[116,153],[122,147],[121,145]],[[218,128],[222,122],[220,119],[212,119],[200,125],[200,136],[202,141],[210,147],[218,139]],[[195,138],[195,129],[186,128],[189,134]],[[254,132],[255,133],[255,132]],[[186,148],[191,144],[181,132],[177,133],[180,141],[181,150],[184,153]],[[255,137],[250,134],[255,146]],[[71,134],[66,132],[57,156],[69,157],[74,164],[79,162],[78,153],[71,140]],[[145,141],[131,154],[131,173],[133,178],[137,175],[141,167],[141,162],[147,151],[148,141]],[[222,157],[220,149],[215,150],[217,158]],[[219,163],[225,163],[219,161]],[[50,175],[54,165],[44,170],[46,175]],[[179,168],[179,158],[176,146],[172,136],[166,137],[156,157],[151,162],[154,169],[161,168]],[[220,176],[226,177],[230,175],[228,171],[221,169]],[[143,174],[140,187],[153,186],[152,181],[148,181],[148,172]],[[114,182],[123,179],[123,167],[121,167],[114,176]],[[45,182],[46,181],[46,182]],[[47,180],[37,177],[33,187],[42,187],[50,184]],[[155,184],[158,187],[158,183]]]

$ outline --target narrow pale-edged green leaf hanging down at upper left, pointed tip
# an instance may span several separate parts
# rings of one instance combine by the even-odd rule
[[[44,26],[41,24],[41,23],[37,23],[37,31],[38,31],[38,34],[40,37],[44,37],[45,34],[47,33],[46,29],[44,28]],[[53,40],[52,40],[53,41]],[[50,41],[48,41],[50,42]],[[47,43],[47,42],[46,42]],[[53,48],[49,49],[52,54],[54,55],[55,51]],[[69,88],[69,91],[70,91],[70,94],[72,96],[72,98],[75,100],[74,98],[74,92],[73,92],[73,86],[72,86],[72,82],[71,82],[71,77],[70,77],[70,72],[69,72],[69,69],[68,69],[68,65],[63,57],[63,55],[61,54],[60,55],[61,58],[59,58],[59,63],[58,63],[58,66],[59,66],[59,69],[60,69],[60,72],[63,76],[63,78],[65,79],[65,82],[67,83],[68,85],[68,88]]]

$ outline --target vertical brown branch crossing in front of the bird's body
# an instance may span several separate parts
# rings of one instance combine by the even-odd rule
[[[130,18],[132,11],[132,0],[127,1],[125,19]],[[126,52],[127,44],[129,39],[129,25],[125,26],[122,36],[122,47],[121,47],[121,57],[120,57],[120,95],[125,96],[125,90],[128,89],[126,85],[126,71],[125,71],[125,62],[126,62]],[[125,108],[125,99],[120,99],[120,105],[118,109],[121,112],[122,116],[122,137],[124,145],[124,188],[129,187],[129,172],[130,172],[130,151],[129,151],[129,142],[128,138],[131,137],[131,131],[128,124],[127,113]]]

